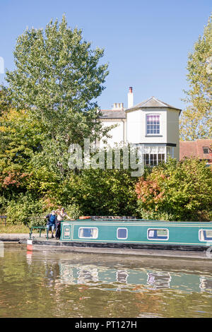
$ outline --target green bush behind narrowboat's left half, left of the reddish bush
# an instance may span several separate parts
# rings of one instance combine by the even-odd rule
[[[75,203],[83,215],[135,215],[136,178],[123,170],[82,170],[57,190],[63,206]]]

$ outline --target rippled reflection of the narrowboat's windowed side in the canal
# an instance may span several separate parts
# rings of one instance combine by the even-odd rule
[[[61,283],[113,285],[111,290],[132,290],[131,286],[143,285],[148,290],[172,289],[182,292],[212,292],[212,277],[182,273],[131,268],[116,269],[105,266],[81,266],[59,263]]]

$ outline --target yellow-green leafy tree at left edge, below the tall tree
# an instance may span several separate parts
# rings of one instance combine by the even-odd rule
[[[31,170],[28,165],[44,139],[42,126],[25,111],[5,110],[0,117],[0,194],[11,199],[26,191]]]

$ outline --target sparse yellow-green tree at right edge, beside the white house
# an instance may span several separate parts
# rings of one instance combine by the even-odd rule
[[[194,44],[187,62],[189,90],[185,91],[187,109],[180,119],[180,134],[184,141],[211,138],[212,134],[212,16],[204,34]]]

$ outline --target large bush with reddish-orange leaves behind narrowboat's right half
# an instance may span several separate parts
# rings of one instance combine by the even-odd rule
[[[170,159],[136,184],[140,218],[210,220],[212,172],[196,158]]]

